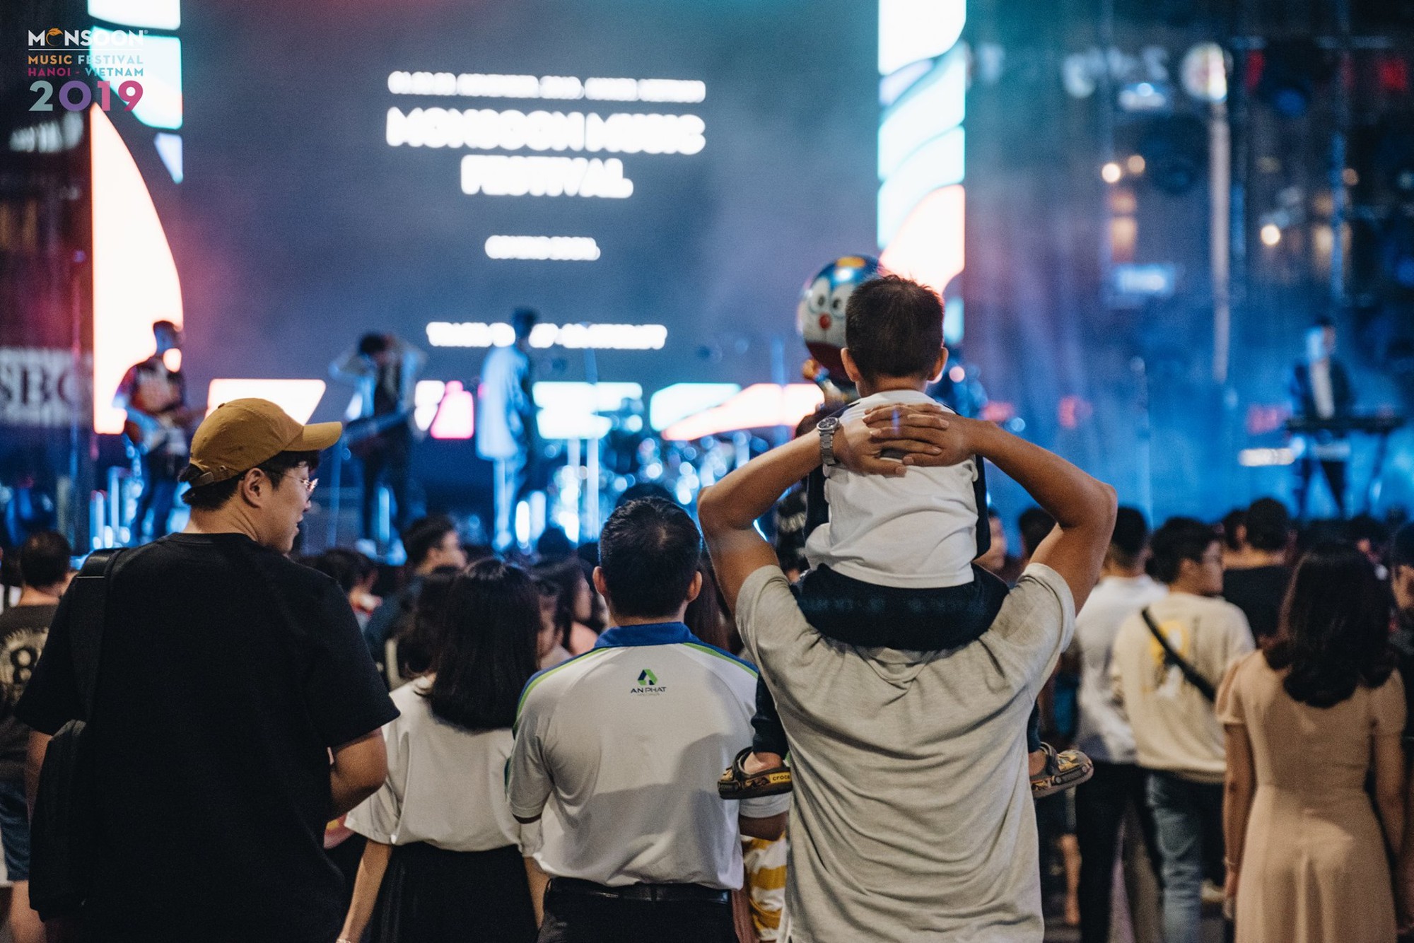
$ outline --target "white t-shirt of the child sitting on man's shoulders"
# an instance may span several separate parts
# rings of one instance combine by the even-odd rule
[[[885,403],[932,403],[916,390],[865,396],[840,417]],[[880,587],[939,588],[971,582],[977,556],[976,459],[949,468],[909,468],[902,476],[826,469],[830,520],[805,544],[812,567]]]

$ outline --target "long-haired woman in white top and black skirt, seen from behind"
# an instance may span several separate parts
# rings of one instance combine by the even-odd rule
[[[393,693],[387,780],[349,813],[368,837],[342,940],[516,943],[536,936],[520,827],[505,793],[510,725],[536,670],[534,581],[499,560],[458,575],[431,672]]]

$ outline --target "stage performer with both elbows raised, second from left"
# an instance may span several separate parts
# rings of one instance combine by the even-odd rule
[[[373,512],[382,481],[393,492],[393,532],[409,520],[407,469],[413,458],[413,390],[427,355],[392,334],[365,334],[329,365],[335,379],[358,389],[359,416],[344,441],[363,464],[362,536],[375,540]]]

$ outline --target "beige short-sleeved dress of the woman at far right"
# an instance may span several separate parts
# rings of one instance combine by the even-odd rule
[[[1398,672],[1328,708],[1299,704],[1261,652],[1234,664],[1217,718],[1247,728],[1257,792],[1237,884],[1237,943],[1393,943],[1384,833],[1365,790],[1374,737],[1404,730]]]

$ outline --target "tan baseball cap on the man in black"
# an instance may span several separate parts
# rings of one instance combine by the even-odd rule
[[[195,471],[187,469],[182,479],[192,488],[215,485],[280,452],[324,451],[342,434],[339,423],[301,426],[270,400],[230,400],[197,427],[189,459]]]

